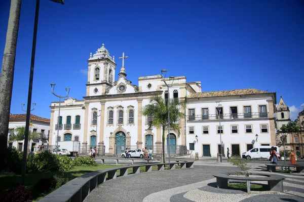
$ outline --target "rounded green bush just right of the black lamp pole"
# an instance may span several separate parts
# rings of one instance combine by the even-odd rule
[[[28,172],[53,172],[59,171],[59,160],[50,151],[42,151],[27,158]]]

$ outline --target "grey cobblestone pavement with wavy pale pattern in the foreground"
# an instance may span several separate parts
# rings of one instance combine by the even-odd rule
[[[263,164],[250,164],[252,172],[269,173]],[[304,174],[283,175],[284,193],[252,191],[250,194],[230,189],[219,189],[212,176],[216,172],[234,172],[229,163],[195,162],[193,169],[166,170],[140,173],[109,180],[95,188],[85,201],[304,201]],[[261,182],[258,182],[261,183]],[[267,182],[264,182],[267,183]]]

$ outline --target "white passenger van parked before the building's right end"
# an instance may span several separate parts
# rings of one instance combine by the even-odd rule
[[[247,152],[244,152],[242,154],[242,158],[243,159],[254,159],[254,158],[265,158],[265,159],[269,159],[270,158],[270,149],[272,146],[257,146],[254,147],[252,149],[250,149]],[[279,147],[278,146],[274,146],[277,147],[277,154],[279,157]]]

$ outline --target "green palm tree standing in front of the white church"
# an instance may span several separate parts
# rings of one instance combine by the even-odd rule
[[[148,128],[154,126],[163,130],[161,163],[165,163],[165,129],[168,126],[168,110],[170,113],[170,130],[174,130],[179,135],[180,126],[176,122],[184,117],[184,113],[181,111],[184,107],[185,100],[181,102],[179,99],[172,99],[168,109],[168,99],[153,96],[150,98],[149,104],[142,108],[142,115],[148,116],[152,120],[148,123]]]

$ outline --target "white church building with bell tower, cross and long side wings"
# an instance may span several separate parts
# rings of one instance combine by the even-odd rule
[[[167,98],[168,94],[170,99],[187,97],[186,116],[179,120],[181,133],[170,131],[173,153],[178,153],[178,146],[186,146],[193,155],[216,157],[222,146],[223,154],[229,147],[233,154],[241,156],[252,146],[275,144],[275,92],[256,89],[202,92],[201,82],[187,82],[184,76],[174,80],[162,75],[141,76],[138,85],[134,85],[127,79],[126,58],[124,54],[120,58],[123,65],[116,78],[115,57],[110,56],[104,44],[90,55],[84,100],[65,99],[59,120],[59,102],[51,103],[50,145],[75,140],[83,148],[105,148],[110,155],[134,145],[161,148],[162,130],[148,129],[149,117],[142,116],[141,109],[149,104],[151,96]],[[169,93],[164,79],[170,83]],[[165,135],[168,145],[167,130]]]

